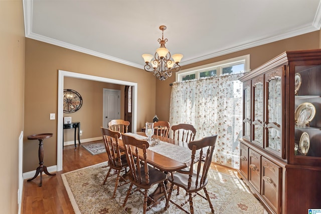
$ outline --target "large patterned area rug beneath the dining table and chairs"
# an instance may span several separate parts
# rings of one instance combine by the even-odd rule
[[[143,195],[133,193],[123,207],[129,184],[119,186],[116,197],[111,198],[114,190],[116,175],[102,182],[108,171],[107,162],[78,169],[62,174],[64,185],[75,213],[142,213]],[[211,197],[215,213],[267,213],[262,204],[248,190],[244,182],[234,175],[230,176],[216,170],[210,170],[207,189]],[[156,187],[156,185],[155,185]],[[154,187],[154,188],[155,188]],[[150,189],[149,192],[152,192]],[[201,191],[204,194],[204,191]],[[180,195],[173,191],[171,199],[184,201],[185,191],[181,188]],[[195,213],[211,213],[208,202],[200,196],[193,199]],[[174,204],[170,203],[168,210],[164,210],[165,199],[152,207],[147,213],[183,213]],[[189,210],[189,204],[184,208]]]

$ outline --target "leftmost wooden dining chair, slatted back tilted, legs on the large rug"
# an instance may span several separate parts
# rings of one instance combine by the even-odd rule
[[[106,183],[106,180],[110,174],[111,169],[116,170],[117,177],[116,177],[114,192],[112,195],[112,198],[114,198],[116,195],[118,184],[119,184],[119,179],[121,178],[122,180],[125,181],[125,178],[122,175],[120,175],[120,171],[125,169],[125,172],[126,172],[126,167],[128,167],[128,163],[126,160],[126,155],[120,154],[119,143],[118,143],[118,138],[121,136],[120,132],[112,131],[110,129],[103,128],[103,127],[100,127],[100,128],[101,128],[101,133],[103,135],[104,142],[105,142],[105,149],[108,155],[108,166],[109,166],[109,170],[106,174],[103,185]],[[123,184],[126,184],[126,183],[128,182],[125,182]]]

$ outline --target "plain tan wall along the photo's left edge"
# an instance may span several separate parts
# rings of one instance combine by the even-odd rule
[[[25,33],[22,1],[0,1],[0,207],[18,213],[18,139],[24,130]]]

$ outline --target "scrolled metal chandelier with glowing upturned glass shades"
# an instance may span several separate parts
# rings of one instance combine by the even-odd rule
[[[178,72],[181,70],[179,63],[183,58],[182,54],[174,54],[171,59],[170,51],[165,47],[165,43],[168,39],[164,39],[164,31],[166,26],[159,26],[159,30],[162,31],[162,39],[157,41],[161,44],[161,47],[157,48],[154,56],[151,54],[141,55],[146,65],[144,66],[145,71],[153,72],[154,76],[158,80],[166,80],[172,76],[172,72]],[[152,60],[154,58],[154,60]]]

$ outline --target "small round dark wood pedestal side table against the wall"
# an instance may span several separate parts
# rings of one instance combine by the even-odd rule
[[[43,147],[43,139],[52,137],[52,133],[45,133],[45,134],[33,134],[28,136],[28,140],[39,140],[39,166],[36,170],[36,174],[33,178],[28,179],[27,181],[31,181],[35,179],[38,174],[40,173],[40,183],[39,186],[42,186],[42,172],[45,172],[46,174],[53,176],[56,175],[56,173],[51,174],[47,170],[47,166],[44,166],[44,147]]]

